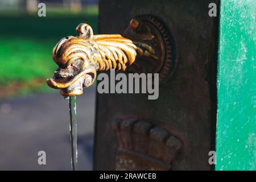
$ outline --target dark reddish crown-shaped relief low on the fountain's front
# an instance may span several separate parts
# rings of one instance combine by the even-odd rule
[[[137,119],[114,122],[119,141],[117,170],[170,170],[181,150],[179,139],[167,130]]]

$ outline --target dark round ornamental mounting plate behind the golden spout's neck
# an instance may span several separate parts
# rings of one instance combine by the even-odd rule
[[[176,68],[176,44],[170,29],[154,15],[138,15],[123,34],[133,40],[138,56],[128,72],[159,73],[165,81]]]

